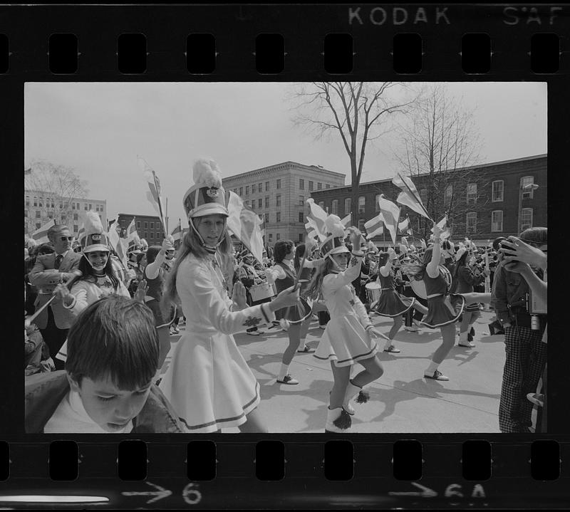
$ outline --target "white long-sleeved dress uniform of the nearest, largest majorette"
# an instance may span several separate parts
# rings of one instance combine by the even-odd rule
[[[232,300],[214,255],[187,256],[178,268],[176,287],[186,332],[176,344],[160,389],[188,432],[237,427],[259,404],[259,383],[232,334],[274,315],[266,305],[230,311]]]

